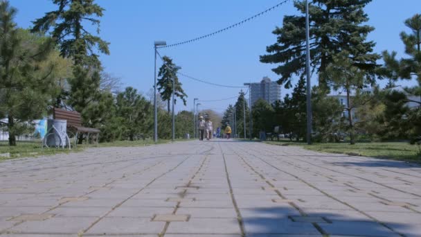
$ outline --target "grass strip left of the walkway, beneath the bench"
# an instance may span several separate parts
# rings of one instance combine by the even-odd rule
[[[186,140],[177,140],[186,141]],[[170,140],[160,139],[157,143],[168,143]],[[114,141],[109,143],[99,143],[98,146],[94,144],[82,144],[77,148],[61,149],[61,148],[41,148],[41,141],[17,141],[17,146],[10,147],[8,141],[0,141],[0,161],[5,159],[14,159],[19,157],[38,157],[41,155],[55,155],[59,153],[80,152],[84,148],[91,147],[134,147],[134,146],[149,146],[155,144],[151,139],[137,140],[137,141]],[[8,156],[1,156],[1,154],[9,153]]]

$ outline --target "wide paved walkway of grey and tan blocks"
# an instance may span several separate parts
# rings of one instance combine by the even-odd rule
[[[421,168],[190,141],[0,163],[3,236],[421,236]]]

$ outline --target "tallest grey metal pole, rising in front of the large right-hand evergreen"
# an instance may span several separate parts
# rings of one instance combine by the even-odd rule
[[[305,72],[307,74],[307,144],[312,143],[312,87],[310,85],[310,22],[308,0],[305,0]]]

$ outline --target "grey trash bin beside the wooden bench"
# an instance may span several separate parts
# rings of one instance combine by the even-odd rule
[[[53,128],[54,125],[54,128]],[[52,129],[53,128],[53,129]],[[67,121],[62,119],[47,120],[47,146],[66,146]],[[53,134],[53,135],[49,135]]]

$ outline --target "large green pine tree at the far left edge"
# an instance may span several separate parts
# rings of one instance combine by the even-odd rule
[[[51,39],[17,28],[17,10],[0,1],[0,116],[7,116],[9,145],[30,120],[46,112],[60,77]]]

